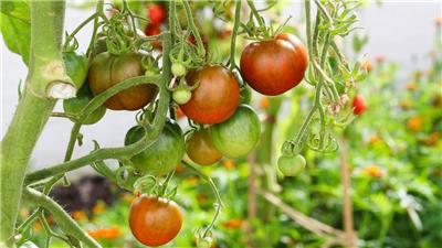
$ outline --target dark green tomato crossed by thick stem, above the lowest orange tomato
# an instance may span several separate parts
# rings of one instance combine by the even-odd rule
[[[141,126],[130,128],[126,133],[125,145],[137,142],[144,133],[145,129]],[[137,171],[159,176],[173,170],[183,154],[185,138],[181,128],[173,120],[168,120],[158,140],[133,157],[131,162]]]

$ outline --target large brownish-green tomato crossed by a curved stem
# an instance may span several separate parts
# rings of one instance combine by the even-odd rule
[[[90,67],[88,80],[92,93],[98,95],[125,79],[144,75],[143,56],[139,53],[126,53],[118,56],[108,52],[98,54]],[[155,93],[154,85],[138,85],[119,91],[104,105],[113,110],[137,110],[146,106],[154,98]]]

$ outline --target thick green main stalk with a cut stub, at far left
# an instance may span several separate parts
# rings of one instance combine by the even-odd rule
[[[55,105],[48,86],[71,84],[61,57],[64,1],[31,2],[31,58],[23,98],[1,142],[0,247],[12,246],[24,173]]]

